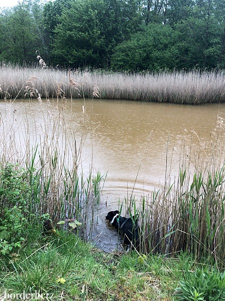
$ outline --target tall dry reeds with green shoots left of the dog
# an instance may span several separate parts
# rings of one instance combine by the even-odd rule
[[[28,90],[30,95],[33,88]],[[18,164],[27,171],[32,190],[30,214],[49,214],[54,223],[76,219],[81,223],[77,227],[79,235],[88,239],[99,204],[102,176],[94,175],[91,168],[86,179],[82,174],[79,166],[85,133],[83,130],[77,145],[70,120],[64,118],[66,102],[62,97],[43,104],[40,98],[36,105],[41,118],[33,114],[31,100],[25,117],[7,104],[0,115],[0,166],[4,169],[8,163]],[[86,117],[83,118],[85,124]]]

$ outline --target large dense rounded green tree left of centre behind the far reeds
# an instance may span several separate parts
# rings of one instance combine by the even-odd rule
[[[62,11],[60,24],[54,30],[55,63],[99,66],[102,48],[97,12],[90,8],[88,0],[71,2],[71,8]]]

